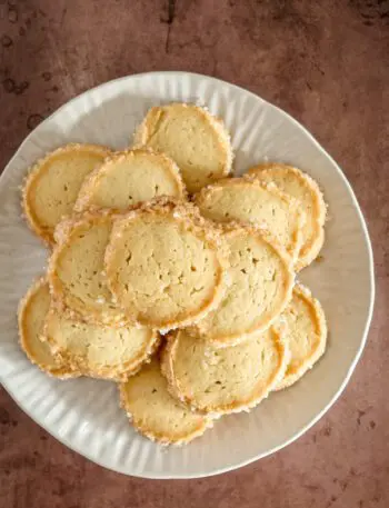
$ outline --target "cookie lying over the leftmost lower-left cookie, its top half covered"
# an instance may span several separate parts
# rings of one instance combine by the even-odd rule
[[[82,375],[119,381],[148,361],[160,339],[158,332],[148,328],[86,323],[51,308],[43,340]]]

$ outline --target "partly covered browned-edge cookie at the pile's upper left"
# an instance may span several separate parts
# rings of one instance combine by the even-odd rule
[[[36,162],[23,188],[22,206],[31,229],[53,243],[60,220],[72,212],[84,178],[110,155],[97,145],[70,143]]]

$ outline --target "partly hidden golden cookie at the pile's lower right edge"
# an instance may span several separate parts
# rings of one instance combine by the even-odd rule
[[[290,360],[277,390],[298,381],[319,360],[326,350],[327,322],[320,302],[310,290],[296,285],[293,296],[280,320],[287,323],[286,341]]]

